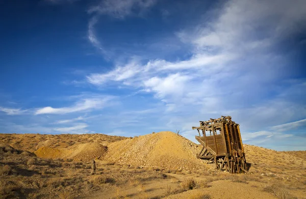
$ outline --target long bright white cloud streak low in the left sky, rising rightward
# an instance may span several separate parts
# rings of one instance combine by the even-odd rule
[[[96,98],[86,98],[77,102],[73,106],[53,108],[50,106],[39,108],[36,110],[35,115],[39,114],[65,114],[70,112],[86,111],[91,109],[99,109],[107,106],[107,102],[113,99],[112,96],[99,96]]]

